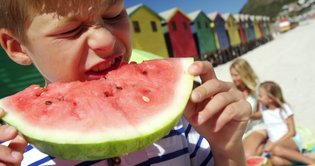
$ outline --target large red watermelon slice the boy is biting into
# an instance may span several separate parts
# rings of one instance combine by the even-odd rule
[[[122,64],[106,79],[32,85],[0,100],[3,120],[39,151],[97,160],[144,148],[178,123],[192,91],[193,58]]]

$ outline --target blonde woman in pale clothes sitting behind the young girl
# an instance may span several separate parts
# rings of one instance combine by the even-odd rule
[[[252,117],[257,112],[257,86],[258,77],[243,59],[236,60],[230,67],[231,76],[238,90],[242,91],[246,100],[252,106]],[[267,133],[262,119],[250,119],[245,134],[243,135],[243,145],[245,156],[261,155],[266,143]]]

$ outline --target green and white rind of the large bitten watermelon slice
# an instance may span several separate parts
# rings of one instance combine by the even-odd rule
[[[7,110],[6,114],[3,116],[3,120],[6,121],[8,124],[16,126],[17,130],[19,130],[26,140],[33,145],[33,147],[37,148],[39,151],[48,154],[50,156],[65,159],[65,160],[99,160],[104,158],[111,158],[120,155],[127,154],[129,152],[133,152],[144,147],[151,145],[154,142],[157,142],[164,136],[169,134],[169,131],[174,128],[174,126],[178,123],[181,118],[181,115],[186,107],[186,103],[189,100],[190,93],[192,91],[192,84],[193,84],[193,76],[188,74],[188,67],[193,63],[193,58],[181,58],[182,64],[184,68],[184,74],[181,77],[182,80],[179,81],[180,85],[178,85],[175,94],[179,93],[178,97],[175,97],[174,104],[171,107],[164,110],[164,115],[161,113],[161,116],[153,117],[151,122],[148,122],[147,126],[134,126],[136,128],[136,133],[134,134],[134,129],[129,131],[129,128],[126,128],[126,133],[128,136],[119,137],[120,134],[112,136],[115,141],[108,141],[106,139],[100,139],[100,141],[95,141],[96,143],[84,142],[76,142],[76,143],[69,143],[66,141],[58,141],[52,138],[54,135],[70,135],[71,133],[57,133],[57,132],[49,132],[49,130],[45,131],[45,134],[42,134],[43,138],[34,139],[32,134],[35,130],[38,132],[43,132],[42,129],[38,130],[36,127],[30,129],[29,126],[21,125],[23,124],[22,119],[17,120],[18,117],[14,113],[8,113],[8,109],[4,106],[3,99],[0,100],[0,108],[4,108]],[[4,98],[5,99],[5,98]],[[185,101],[185,103],[184,103]],[[176,109],[177,111],[174,111]],[[173,113],[165,117],[165,115],[169,114],[168,112],[172,111]],[[9,115],[9,116],[8,116]],[[163,117],[161,119],[161,117]],[[164,126],[157,126],[157,121],[164,121]],[[19,125],[17,125],[19,124]],[[160,123],[159,123],[160,124]],[[17,127],[19,126],[19,127]],[[152,130],[155,130],[152,132]],[[123,131],[117,131],[123,132]],[[75,136],[78,136],[76,134]],[[85,138],[84,133],[82,133],[82,137]],[[110,137],[110,136],[109,136]],[[110,138],[112,138],[110,137]],[[90,138],[90,137],[88,137]]]

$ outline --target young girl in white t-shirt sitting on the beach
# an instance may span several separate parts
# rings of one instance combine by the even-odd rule
[[[280,87],[274,82],[262,83],[259,87],[258,102],[268,134],[264,152],[272,152],[272,164],[315,163],[300,153],[301,137],[295,131],[293,111],[285,102]]]

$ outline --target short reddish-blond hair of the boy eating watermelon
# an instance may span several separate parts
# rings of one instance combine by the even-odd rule
[[[115,1],[117,0],[111,2]],[[36,14],[72,11],[74,8],[80,11],[84,9],[85,4],[97,7],[103,2],[104,0],[0,0],[0,29],[9,30],[11,35],[18,37],[25,45],[26,31]]]

